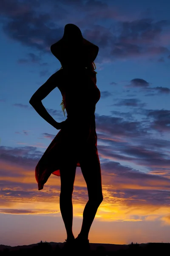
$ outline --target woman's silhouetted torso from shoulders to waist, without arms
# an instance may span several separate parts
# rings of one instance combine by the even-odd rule
[[[87,69],[59,70],[61,82],[58,86],[67,111],[68,119],[88,122],[94,116],[100,91],[96,86],[96,73]],[[93,118],[93,117],[92,117]]]

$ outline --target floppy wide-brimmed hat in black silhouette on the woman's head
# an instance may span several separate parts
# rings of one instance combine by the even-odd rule
[[[51,52],[62,64],[68,61],[88,64],[96,59],[99,47],[83,38],[78,26],[69,23],[65,25],[63,37],[51,45]]]

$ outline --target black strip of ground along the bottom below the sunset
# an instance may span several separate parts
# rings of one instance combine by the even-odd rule
[[[62,250],[64,243],[43,242],[38,244],[30,244],[23,246],[6,246],[0,245],[0,256],[32,256],[32,255],[46,255],[46,256],[62,256],[62,255],[76,255],[76,256],[122,256],[122,255],[169,255],[169,243],[147,243],[147,244],[90,244],[91,250],[87,253],[84,248],[74,248],[72,251],[68,250],[66,253]]]

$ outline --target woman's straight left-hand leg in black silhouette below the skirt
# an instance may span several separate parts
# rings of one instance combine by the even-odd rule
[[[65,224],[67,239],[74,239],[73,235],[73,204],[72,194],[74,189],[74,180],[77,163],[71,160],[65,160],[60,169],[61,189],[59,196],[59,205],[62,219]]]

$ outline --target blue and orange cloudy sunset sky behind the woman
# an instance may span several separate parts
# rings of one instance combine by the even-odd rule
[[[0,14],[0,244],[66,239],[60,178],[51,175],[38,191],[34,175],[59,130],[29,100],[61,67],[50,46],[67,23],[99,47],[95,116],[104,200],[89,241],[170,242],[170,1],[0,0]],[[58,88],[42,101],[57,122],[66,119],[61,102]],[[77,167],[75,236],[85,185]]]

